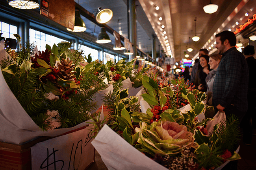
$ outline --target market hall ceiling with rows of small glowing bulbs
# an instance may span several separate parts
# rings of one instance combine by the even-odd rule
[[[98,7],[109,8],[114,16],[107,23],[109,27],[117,31],[125,38],[128,37],[127,22],[127,1],[126,0],[74,0],[84,9],[96,15]],[[211,3],[219,6],[217,12],[207,14],[203,7],[210,3],[210,0],[135,0],[137,13],[137,46],[145,53],[152,52],[152,35],[157,37],[156,51],[166,51],[166,55],[173,55],[176,62],[189,54],[190,58],[197,57],[198,50],[208,48],[215,41],[214,35],[224,30],[231,29],[233,32],[240,25],[243,25],[252,15],[256,13],[256,0],[211,0]],[[156,10],[155,6],[160,9]],[[245,16],[248,13],[248,16]],[[163,20],[158,18],[162,17]],[[195,18],[196,33],[195,33]],[[98,35],[100,27],[86,18],[83,18],[87,27],[86,32]],[[239,22],[238,25],[235,22]],[[164,25],[165,28],[161,28]],[[252,24],[253,25],[253,24]],[[255,26],[254,26],[255,27]],[[252,28],[251,28],[252,29]],[[163,34],[166,31],[166,34]],[[243,31],[237,34],[237,40],[248,41]],[[200,37],[198,42],[191,38],[195,34]],[[165,36],[171,46],[171,53],[167,50]],[[109,34],[114,42],[114,36]],[[207,44],[207,45],[206,45]],[[193,48],[188,52],[187,48]],[[216,49],[209,49],[210,53]]]

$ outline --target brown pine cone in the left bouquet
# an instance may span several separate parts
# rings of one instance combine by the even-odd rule
[[[75,68],[75,65],[72,64],[72,62],[73,61],[69,60],[69,58],[67,60],[62,58],[60,63],[57,63],[57,67],[59,69],[58,76],[61,79],[72,81],[76,77],[76,75],[74,75],[74,73],[76,73],[76,71],[73,71]]]

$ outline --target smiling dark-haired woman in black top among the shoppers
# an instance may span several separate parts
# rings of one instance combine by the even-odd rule
[[[198,64],[198,70],[195,77],[195,88],[200,91],[207,91],[206,81],[205,78],[211,71],[209,62],[209,56],[208,55],[201,55],[199,57],[199,64]]]

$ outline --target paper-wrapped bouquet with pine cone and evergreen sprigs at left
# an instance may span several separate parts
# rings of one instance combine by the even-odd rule
[[[82,66],[85,60],[91,62],[90,56],[69,47],[54,44],[37,51],[34,44],[26,44],[18,52],[7,49],[8,53],[1,47],[0,116],[5,124],[2,133],[7,133],[1,135],[2,141],[22,143],[40,135],[55,136],[90,119],[97,107],[95,95],[107,84],[88,72],[91,64]]]

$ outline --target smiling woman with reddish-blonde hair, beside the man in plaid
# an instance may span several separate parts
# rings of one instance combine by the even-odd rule
[[[216,71],[219,66],[219,62],[221,62],[221,57],[222,55],[220,54],[213,54],[209,56],[209,62],[208,64],[210,65],[211,71],[207,75],[205,81],[206,81],[206,86],[207,86],[207,98],[206,98],[206,104],[209,106],[212,106],[212,87],[213,87],[213,82],[215,79]]]

